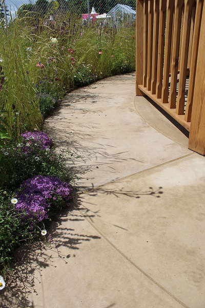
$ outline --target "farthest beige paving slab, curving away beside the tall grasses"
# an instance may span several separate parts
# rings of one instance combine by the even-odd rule
[[[69,93],[46,120],[47,132],[57,146],[74,149],[82,157],[68,161],[75,172],[85,172],[85,176],[80,175],[78,187],[105,184],[192,152],[138,115],[134,106],[135,79],[132,74],[128,76],[108,78]],[[118,78],[122,82],[112,84]],[[178,135],[187,139],[180,131]]]

